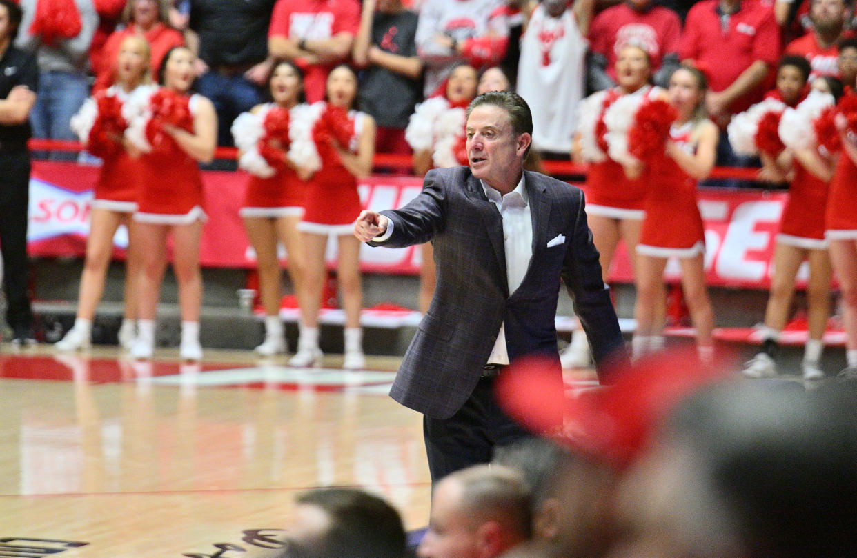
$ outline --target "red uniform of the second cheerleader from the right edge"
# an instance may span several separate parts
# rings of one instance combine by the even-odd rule
[[[828,185],[794,161],[794,180],[782,211],[776,242],[806,249],[826,249],[824,213]]]

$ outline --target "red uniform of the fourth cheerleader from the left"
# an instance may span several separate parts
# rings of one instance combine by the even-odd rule
[[[363,112],[348,115],[359,138],[363,133]],[[354,222],[363,211],[357,193],[357,177],[351,174],[339,158],[322,161],[321,169],[309,178],[304,198],[303,219],[298,229],[316,234],[336,236],[354,233]]]

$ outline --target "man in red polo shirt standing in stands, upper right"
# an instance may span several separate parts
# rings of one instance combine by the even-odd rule
[[[709,78],[705,110],[725,129],[732,115],[762,100],[780,57],[780,27],[769,4],[752,0],[702,0],[687,14],[681,35],[682,63]],[[717,165],[747,166],[722,134]]]

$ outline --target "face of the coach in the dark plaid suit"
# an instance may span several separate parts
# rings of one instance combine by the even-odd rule
[[[504,193],[514,189],[530,135],[516,136],[508,112],[496,105],[476,106],[467,118],[466,131],[465,148],[473,176]]]

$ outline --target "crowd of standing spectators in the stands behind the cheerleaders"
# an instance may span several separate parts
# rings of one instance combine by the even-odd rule
[[[111,61],[131,33],[151,43],[153,70],[171,46],[199,53],[195,88],[214,103],[220,145],[231,145],[231,121],[265,98],[274,60],[303,70],[309,102],[323,98],[330,69],[350,63],[358,108],[378,123],[379,153],[411,152],[405,128],[415,107],[442,96],[462,63],[497,67],[533,107],[536,149],[560,158],[571,148],[574,106],[614,87],[626,44],[649,54],[656,84],[680,62],[701,69],[706,109],[722,129],[773,87],[783,53],[805,56],[813,78],[850,86],[857,66],[839,52],[854,49],[850,0],[22,0],[21,8],[15,44],[39,64],[31,120],[40,138],[74,137],[69,118],[91,89],[111,83]],[[722,140],[718,164],[751,163]]]

